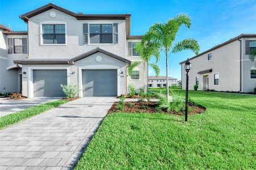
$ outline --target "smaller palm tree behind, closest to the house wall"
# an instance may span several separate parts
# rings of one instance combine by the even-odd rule
[[[141,56],[142,61],[134,61],[131,63],[131,65],[128,68],[128,74],[131,76],[133,73],[133,69],[143,63],[144,70],[146,69],[146,63],[150,61],[152,57],[155,57],[156,63],[159,61],[159,54],[158,51],[156,51],[154,48],[150,48],[152,44],[148,43],[147,45],[141,44],[139,42],[135,46],[135,51],[138,52]],[[154,51],[155,50],[155,51]],[[152,67],[152,69],[155,71],[156,76],[159,75],[160,69],[156,63],[148,63],[148,66]],[[146,77],[146,72],[144,71],[144,78]],[[146,83],[144,81],[144,92],[146,92]]]

